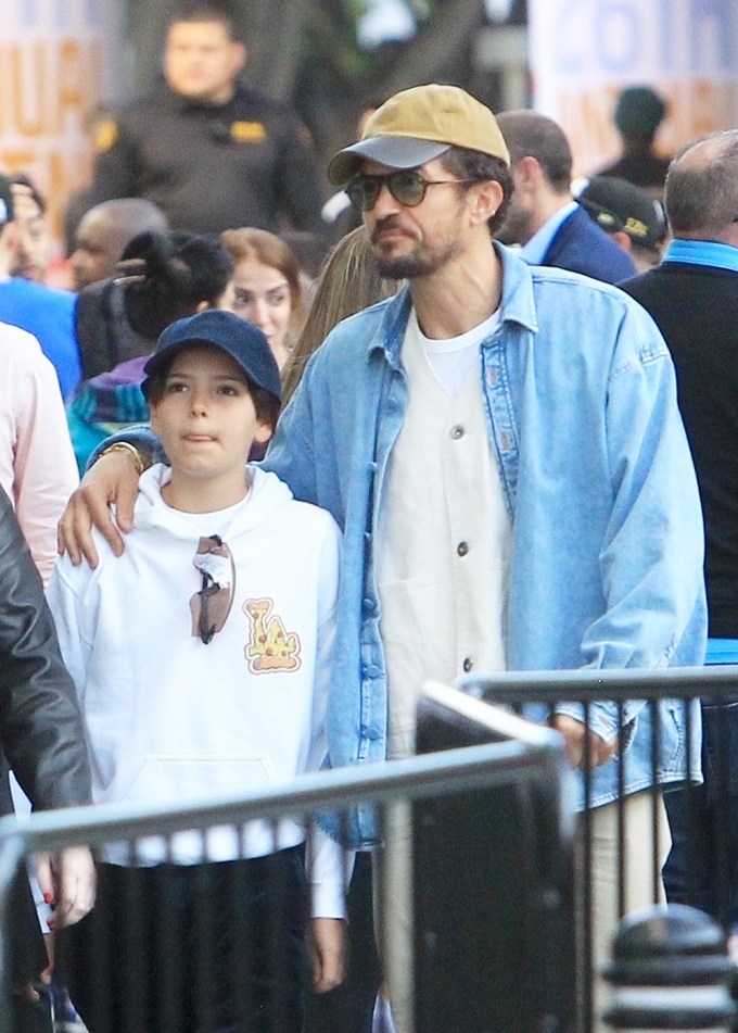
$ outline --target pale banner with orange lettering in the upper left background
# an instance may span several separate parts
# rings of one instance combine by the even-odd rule
[[[0,169],[26,172],[49,202],[54,236],[85,185],[86,125],[124,81],[123,0],[2,0]]]

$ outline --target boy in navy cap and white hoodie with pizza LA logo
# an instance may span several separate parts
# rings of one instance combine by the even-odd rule
[[[220,311],[180,319],[162,333],[144,371],[152,426],[171,466],[141,476],[125,559],[100,538],[98,567],[64,557],[49,589],[86,720],[93,798],[167,805],[288,783],[319,768],[326,754],[338,528],[322,509],[296,502],[276,475],[247,465],[252,442],[271,436],[280,402],[279,371],[260,330]],[[137,938],[153,952],[163,936],[157,906],[183,900],[177,940],[196,944],[203,884],[217,894],[215,907],[205,898],[213,923],[205,949],[216,952],[213,1028],[301,1029],[305,835],[285,819],[276,841],[259,824],[243,836],[214,830],[206,857],[198,833],[177,834],[167,854],[145,841],[135,861],[107,846],[98,907],[62,945],[72,996],[90,1029],[132,1030],[131,1021],[162,1028],[164,997],[181,1008],[176,1028],[195,1029],[203,1004],[193,994],[196,945],[175,962],[176,986],[163,991],[161,957],[152,953],[131,987],[120,915],[126,895],[140,894],[138,910],[151,927]],[[315,980],[328,990],[342,978],[341,855],[316,831],[310,856]],[[285,887],[280,904],[290,921],[269,991],[264,955],[275,880]],[[228,892],[231,881],[238,893]],[[239,922],[250,965],[234,946]]]

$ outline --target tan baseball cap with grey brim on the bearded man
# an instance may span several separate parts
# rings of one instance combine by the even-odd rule
[[[485,104],[458,86],[413,86],[377,109],[358,143],[333,155],[328,178],[334,186],[348,182],[367,158],[390,168],[415,168],[449,147],[481,151],[510,164],[497,119]]]

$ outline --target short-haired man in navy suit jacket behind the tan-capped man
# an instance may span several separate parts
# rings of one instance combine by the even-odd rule
[[[583,273],[606,284],[635,275],[633,260],[572,197],[572,152],[561,127],[534,111],[497,116],[510,151],[514,192],[500,232],[530,265]]]

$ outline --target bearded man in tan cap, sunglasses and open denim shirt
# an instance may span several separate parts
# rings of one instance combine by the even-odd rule
[[[331,765],[412,753],[428,679],[701,664],[701,508],[653,323],[621,291],[529,266],[493,240],[512,191],[507,148],[492,112],[457,87],[391,98],[329,176],[361,211],[381,274],[409,281],[331,331],[264,461],[344,529]],[[79,534],[93,483],[100,509],[118,497],[118,521],[131,520],[133,464],[112,454],[65,520],[73,554],[94,555]],[[119,551],[120,534],[101,524]],[[656,706],[659,782],[683,781],[682,709]],[[572,765],[594,769],[595,963],[619,918],[621,792],[627,906],[653,899],[653,803],[636,792],[654,780],[653,720],[640,704],[607,701],[587,723],[567,703],[552,718]],[[627,765],[615,759],[625,743]],[[336,817],[334,832],[367,848],[374,810]],[[408,842],[399,822],[386,851],[397,891],[383,914],[400,947],[412,930],[399,899]],[[665,856],[667,832],[657,843]],[[491,943],[504,934],[491,929]],[[402,950],[384,960],[396,1029],[408,1033],[420,1012],[412,980],[396,977],[411,966]],[[495,985],[489,1029],[511,1029],[510,1009],[543,1007],[537,995],[521,1000],[518,974]],[[459,983],[460,1025],[473,996]],[[532,1015],[531,1028],[543,1021]]]

